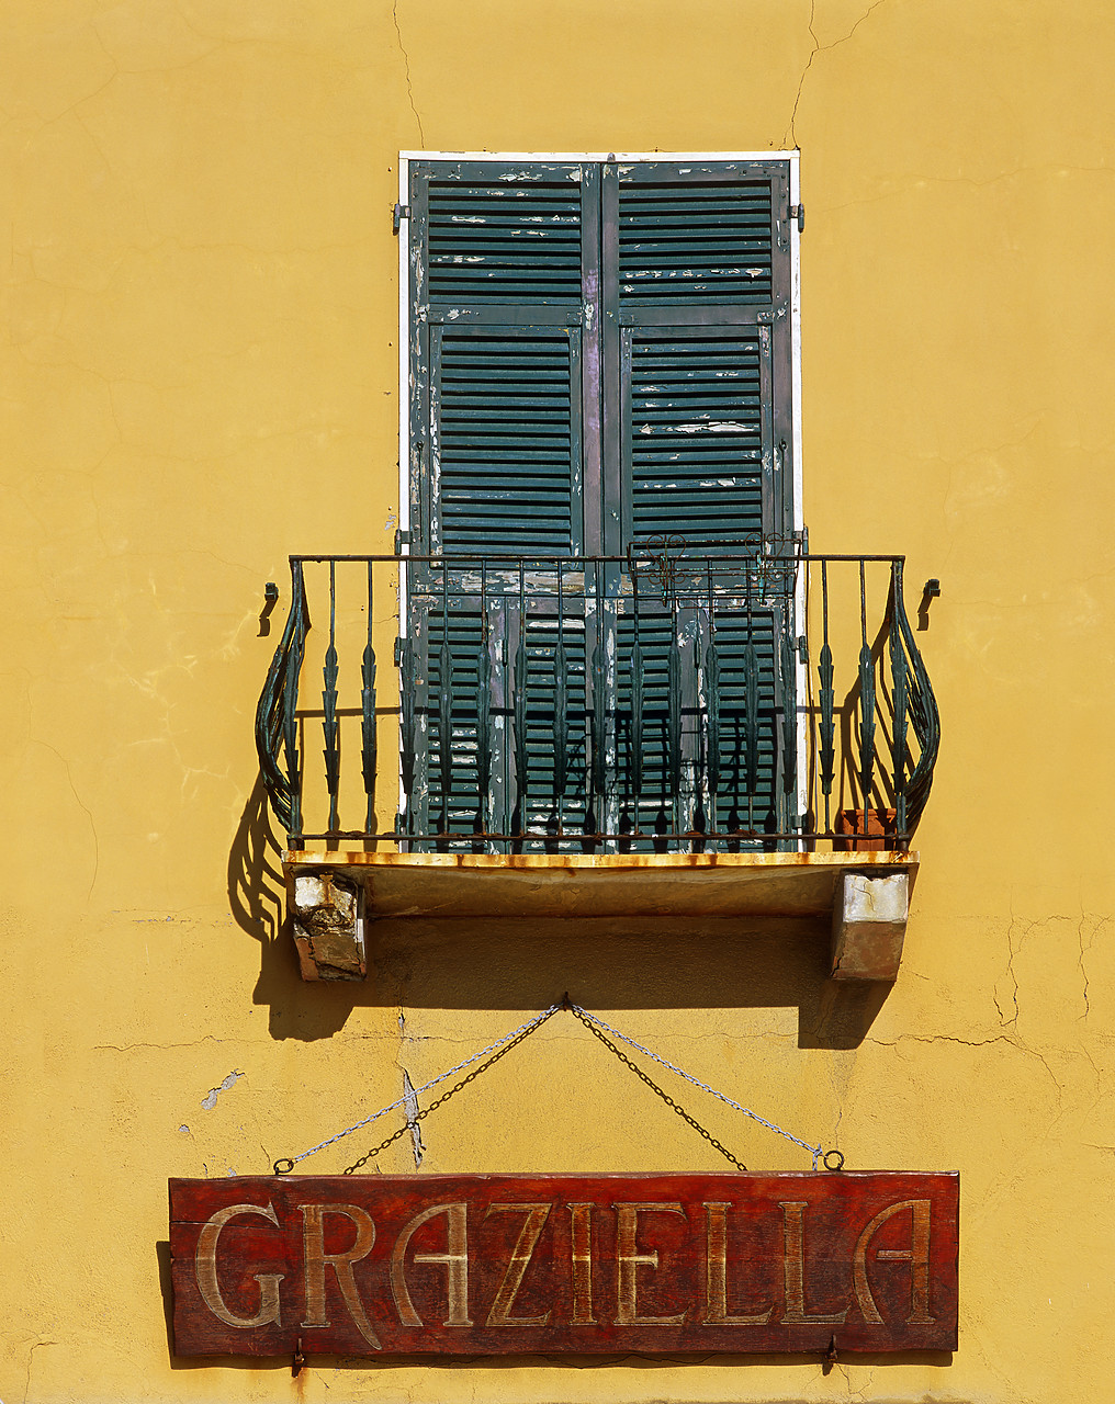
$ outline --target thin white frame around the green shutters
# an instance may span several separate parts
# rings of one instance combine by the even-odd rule
[[[410,204],[410,163],[421,161],[470,161],[470,163],[552,163],[552,161],[597,161],[597,163],[656,163],[656,161],[754,161],[763,164],[786,164],[789,174],[789,204],[800,205],[800,153],[796,150],[778,152],[451,152],[451,150],[404,150],[399,153],[399,531],[403,541],[411,531],[410,519],[410,484],[411,476],[417,473],[418,465],[411,462],[413,445],[410,435],[410,375],[411,375],[411,344],[410,344],[410,220],[407,208]],[[791,403],[789,403],[789,498],[791,521],[795,534],[805,531],[802,507],[802,337],[800,337],[800,230],[798,220],[789,219],[789,333],[791,333]],[[785,466],[784,466],[785,470]],[[406,556],[406,546],[400,555]],[[399,566],[399,597],[407,598],[407,567],[404,559]],[[793,598],[795,618],[805,621],[805,571],[798,573],[798,584]],[[409,611],[400,605],[399,632],[403,636],[407,630]],[[796,643],[796,640],[793,640]],[[795,710],[796,710],[796,806],[798,813],[805,814],[809,806],[809,753],[807,753],[807,664],[802,660],[800,651],[793,647],[795,660]],[[402,781],[402,762],[399,771],[399,810],[406,804],[406,795]]]

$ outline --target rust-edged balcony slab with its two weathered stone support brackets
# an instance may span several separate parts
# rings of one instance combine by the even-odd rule
[[[292,849],[306,980],[362,980],[379,918],[826,917],[837,980],[895,980],[916,852],[397,854]]]

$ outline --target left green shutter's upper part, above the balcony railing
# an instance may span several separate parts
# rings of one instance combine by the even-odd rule
[[[434,555],[584,550],[597,184],[576,163],[411,166],[411,521]]]

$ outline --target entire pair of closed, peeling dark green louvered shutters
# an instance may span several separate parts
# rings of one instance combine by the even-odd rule
[[[410,571],[413,831],[785,830],[792,598],[725,557],[792,528],[786,164],[410,173],[414,545],[489,562],[483,600]],[[507,557],[666,534],[725,560],[712,611],[674,601],[636,630],[619,567],[562,622],[545,588],[515,601]]]

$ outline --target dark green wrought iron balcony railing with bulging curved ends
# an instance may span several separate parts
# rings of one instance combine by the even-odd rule
[[[292,848],[904,849],[925,806],[900,556],[670,538],[292,556],[291,581],[256,739]]]

